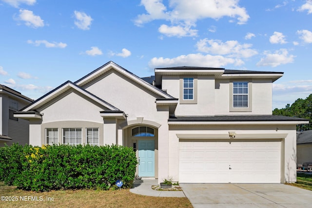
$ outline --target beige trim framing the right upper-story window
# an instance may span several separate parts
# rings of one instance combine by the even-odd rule
[[[233,83],[234,82],[248,82],[248,107],[234,107],[234,102],[233,102]],[[253,111],[253,83],[251,80],[231,80],[230,81],[230,112],[252,112]]]

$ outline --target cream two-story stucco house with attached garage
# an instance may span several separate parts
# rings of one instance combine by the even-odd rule
[[[15,116],[29,120],[32,145],[132,147],[137,175],[158,182],[294,182],[296,125],[309,121],[272,115],[281,76],[171,67],[156,68],[154,81],[108,62]]]

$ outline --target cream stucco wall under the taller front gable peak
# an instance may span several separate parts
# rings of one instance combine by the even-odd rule
[[[124,111],[128,120],[157,120],[156,97],[134,81],[112,70],[90,83],[86,90]]]

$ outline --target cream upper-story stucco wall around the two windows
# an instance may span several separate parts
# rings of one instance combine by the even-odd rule
[[[180,78],[197,78],[195,94],[197,93],[196,104],[181,104],[179,82]],[[235,81],[245,81],[244,79]],[[169,95],[179,98],[176,107],[176,116],[183,115],[241,115],[241,114],[272,114],[272,81],[269,79],[248,79],[251,86],[251,112],[230,111],[230,80],[216,79],[214,76],[162,76],[162,89],[167,90]],[[232,104],[232,103],[231,103]]]

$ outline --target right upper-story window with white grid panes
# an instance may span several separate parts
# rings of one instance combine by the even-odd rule
[[[248,82],[233,82],[233,107],[248,108]]]

